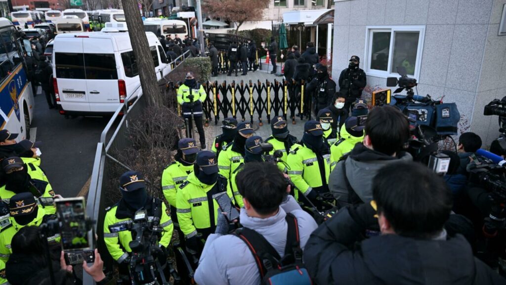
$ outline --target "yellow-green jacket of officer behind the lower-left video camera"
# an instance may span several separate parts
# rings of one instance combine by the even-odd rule
[[[152,201],[153,198],[150,198]],[[161,238],[158,241],[160,245],[165,247],[171,242],[172,231],[174,230],[174,225],[172,224],[171,216],[168,215],[167,207],[165,203],[163,203],[160,199],[155,199],[155,203],[157,206],[161,206],[161,217],[160,217],[160,225],[159,227],[163,228],[163,232],[161,234]],[[154,208],[154,205],[152,205]],[[132,232],[129,230],[120,231],[111,233],[109,230],[109,226],[111,225],[121,225],[125,224],[127,221],[131,221],[130,218],[116,218],[116,211],[118,209],[118,204],[115,204],[112,207],[107,207],[105,210],[107,211],[105,214],[104,220],[104,241],[107,246],[107,250],[109,254],[111,254],[112,258],[117,261],[117,263],[123,262],[126,258],[128,258],[129,253],[132,252],[129,243],[132,241]],[[152,215],[152,213],[150,213]]]

